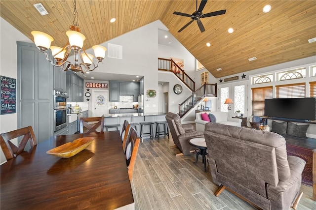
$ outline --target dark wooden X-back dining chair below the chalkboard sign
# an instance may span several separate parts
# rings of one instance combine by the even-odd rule
[[[23,136],[21,141],[19,142],[18,146],[15,146],[11,142],[11,140],[21,136]],[[4,153],[6,160],[10,160],[13,157],[16,157],[17,155],[21,154],[24,151],[24,148],[28,141],[30,141],[31,149],[33,149],[34,146],[37,145],[32,126],[27,126],[7,133],[1,133],[1,149]]]

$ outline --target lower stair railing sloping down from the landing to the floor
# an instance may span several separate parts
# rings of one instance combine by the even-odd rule
[[[205,96],[217,96],[217,83],[202,85],[197,91],[190,95],[184,102],[179,104],[179,116],[182,118]]]

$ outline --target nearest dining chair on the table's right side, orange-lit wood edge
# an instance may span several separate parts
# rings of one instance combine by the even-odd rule
[[[140,143],[140,137],[134,128],[129,129],[128,138],[126,140],[125,159],[128,168],[129,180],[132,180],[134,165],[136,161],[137,151]]]

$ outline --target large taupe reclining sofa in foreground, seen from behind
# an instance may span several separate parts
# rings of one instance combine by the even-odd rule
[[[287,156],[282,136],[213,122],[204,136],[216,196],[226,188],[264,210],[296,208],[306,162]]]

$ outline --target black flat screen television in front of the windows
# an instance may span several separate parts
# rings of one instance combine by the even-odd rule
[[[316,120],[315,98],[265,99],[265,116],[296,120]]]

